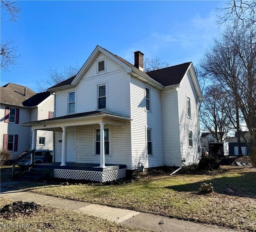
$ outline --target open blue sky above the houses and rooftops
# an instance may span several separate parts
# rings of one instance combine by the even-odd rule
[[[17,22],[1,15],[1,40],[14,40],[18,66],[1,70],[37,91],[48,70],[80,66],[97,45],[134,63],[134,52],[169,65],[196,65],[220,31],[216,8],[224,1],[19,1]]]

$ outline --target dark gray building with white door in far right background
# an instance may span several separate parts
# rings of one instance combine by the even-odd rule
[[[229,154],[230,155],[248,155],[251,153],[250,147],[246,144],[243,136],[246,138],[247,142],[252,145],[252,141],[250,138],[250,133],[248,131],[242,131],[240,141],[241,141],[241,148],[242,148],[242,154],[238,154],[238,143],[237,143],[237,137],[227,137],[226,141],[229,143]]]

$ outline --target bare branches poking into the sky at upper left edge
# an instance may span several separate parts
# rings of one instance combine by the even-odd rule
[[[10,21],[16,22],[20,13],[20,8],[16,1],[1,0],[1,10],[10,16]],[[2,23],[2,19],[1,19]],[[13,46],[13,40],[1,41],[1,62],[0,67],[4,71],[10,71],[13,65],[17,65],[18,57],[17,48]]]

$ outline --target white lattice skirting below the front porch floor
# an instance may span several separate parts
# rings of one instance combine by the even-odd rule
[[[84,171],[69,169],[54,169],[55,178],[74,179],[74,180],[92,180],[98,182],[108,182],[118,180],[126,176],[126,169],[117,169],[112,171]]]

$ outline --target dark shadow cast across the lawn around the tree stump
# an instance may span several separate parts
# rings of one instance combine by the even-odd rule
[[[241,176],[236,177],[216,177],[208,179],[205,182],[212,183],[214,192],[216,193],[230,196],[256,198],[256,172],[244,172],[240,174]],[[201,183],[202,181],[190,184],[166,186],[165,188],[178,192],[199,192]]]

